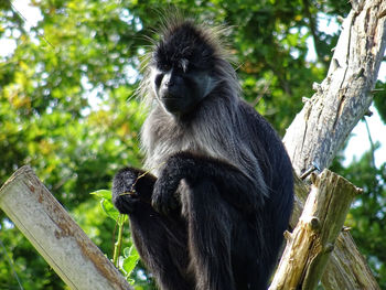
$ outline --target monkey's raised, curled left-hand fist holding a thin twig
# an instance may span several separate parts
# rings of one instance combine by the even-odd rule
[[[142,170],[125,168],[112,180],[112,203],[122,214],[131,214],[140,203],[151,203],[156,178]]]

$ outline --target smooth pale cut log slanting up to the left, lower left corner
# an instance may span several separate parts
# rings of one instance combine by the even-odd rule
[[[131,289],[31,168],[3,184],[0,207],[71,289]]]

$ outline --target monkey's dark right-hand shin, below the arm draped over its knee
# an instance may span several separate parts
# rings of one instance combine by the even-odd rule
[[[197,290],[235,290],[230,262],[232,212],[208,180],[189,184],[181,201],[189,223],[189,249]]]

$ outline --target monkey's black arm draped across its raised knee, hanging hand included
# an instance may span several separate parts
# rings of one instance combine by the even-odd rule
[[[179,152],[169,158],[156,182],[152,206],[158,212],[168,214],[173,207],[174,192],[182,179],[190,186],[203,179],[212,180],[224,200],[246,213],[264,205],[257,183],[236,167],[213,158]]]

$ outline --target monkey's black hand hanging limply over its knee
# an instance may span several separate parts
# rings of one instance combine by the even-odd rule
[[[181,167],[181,160],[174,155],[171,157],[156,182],[151,205],[161,214],[169,215],[179,206],[176,190],[184,178]]]

